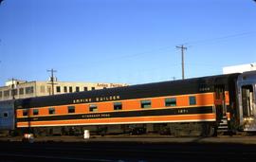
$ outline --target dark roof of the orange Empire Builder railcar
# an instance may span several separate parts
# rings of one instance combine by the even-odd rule
[[[107,97],[107,96],[117,96],[122,95],[124,99],[127,99],[127,96],[137,96],[139,98],[139,94],[152,94],[152,96],[160,96],[160,92],[165,92],[167,88],[174,89],[175,92],[182,91],[190,93],[193,92],[192,85],[198,83],[205,84],[213,84],[213,82],[227,82],[230,78],[237,78],[239,73],[228,74],[228,75],[217,75],[217,76],[208,76],[208,77],[200,77],[200,78],[192,78],[186,80],[176,80],[176,81],[160,81],[153,83],[144,83],[137,85],[128,85],[123,87],[116,88],[108,88],[101,90],[93,90],[86,92],[75,92],[75,93],[67,93],[61,95],[54,96],[46,96],[46,97],[36,97],[29,99],[17,99],[17,105],[23,105],[23,108],[30,107],[40,107],[40,106],[51,106],[51,105],[61,105],[61,104],[72,104],[73,99],[88,99],[88,98],[96,98],[96,97]],[[186,86],[187,85],[187,86]],[[196,87],[198,88],[198,87]],[[159,94],[159,95],[158,95]],[[142,97],[142,95],[141,95]],[[55,104],[56,103],[56,104]]]

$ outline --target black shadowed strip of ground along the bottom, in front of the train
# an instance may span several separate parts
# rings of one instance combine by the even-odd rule
[[[3,160],[22,161],[237,161],[256,159],[256,145],[137,142],[2,142]]]

